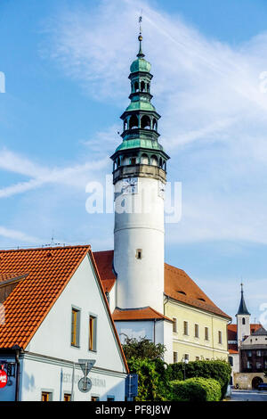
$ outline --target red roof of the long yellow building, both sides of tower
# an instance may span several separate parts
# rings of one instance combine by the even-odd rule
[[[110,291],[116,282],[116,275],[114,275],[112,270],[113,254],[114,251],[97,251],[93,253],[100,271],[103,287],[107,292]],[[189,275],[182,269],[168,264],[165,264],[165,293],[174,300],[231,319],[206,296]]]

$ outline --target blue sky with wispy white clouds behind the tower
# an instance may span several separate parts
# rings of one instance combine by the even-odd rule
[[[53,235],[112,248],[113,215],[85,211],[85,185],[111,171],[141,10],[168,179],[182,182],[166,261],[231,316],[242,277],[258,319],[267,303],[264,0],[1,2],[0,247]]]

